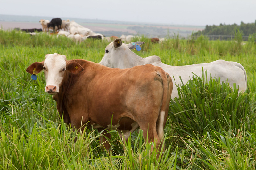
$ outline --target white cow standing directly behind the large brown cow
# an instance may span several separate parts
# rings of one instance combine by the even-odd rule
[[[228,81],[231,88],[233,84],[239,86],[239,92],[245,92],[247,88],[247,76],[244,67],[237,62],[216,60],[211,63],[192,64],[184,66],[171,66],[161,62],[159,56],[153,55],[142,58],[132,52],[130,49],[136,48],[136,45],[142,45],[144,42],[122,43],[121,39],[115,39],[105,48],[105,54],[99,64],[111,68],[130,68],[137,65],[152,64],[163,68],[163,70],[174,78],[173,82],[177,86],[186,84],[194,74],[202,78],[203,71],[207,70],[207,78],[220,78],[220,81]],[[194,74],[193,74],[194,73]],[[180,80],[180,77],[183,81]],[[171,98],[179,98],[177,86],[174,85]]]

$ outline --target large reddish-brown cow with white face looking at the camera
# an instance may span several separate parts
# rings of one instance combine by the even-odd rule
[[[54,53],[26,69],[34,75],[42,70],[45,92],[53,95],[60,118],[73,129],[116,129],[127,140],[140,128],[146,142],[162,145],[173,84],[160,67],[114,69],[82,59],[67,61]],[[110,139],[109,133],[106,136]],[[100,141],[109,149],[106,140],[103,136]]]

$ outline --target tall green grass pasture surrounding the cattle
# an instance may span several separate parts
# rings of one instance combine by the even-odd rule
[[[73,132],[59,119],[52,96],[45,94],[44,74],[34,81],[25,71],[48,53],[98,63],[109,42],[76,44],[45,33],[0,30],[0,169],[255,169],[256,45],[253,37],[241,45],[239,32],[235,40],[181,40],[175,35],[153,44],[141,38],[145,44],[134,52],[142,57],[158,55],[169,65],[236,61],[248,78],[248,90],[240,94],[218,79],[197,76],[180,87],[180,98],[170,101],[166,146],[157,158],[139,130],[127,143],[112,130],[109,152],[100,149],[96,129]]]

